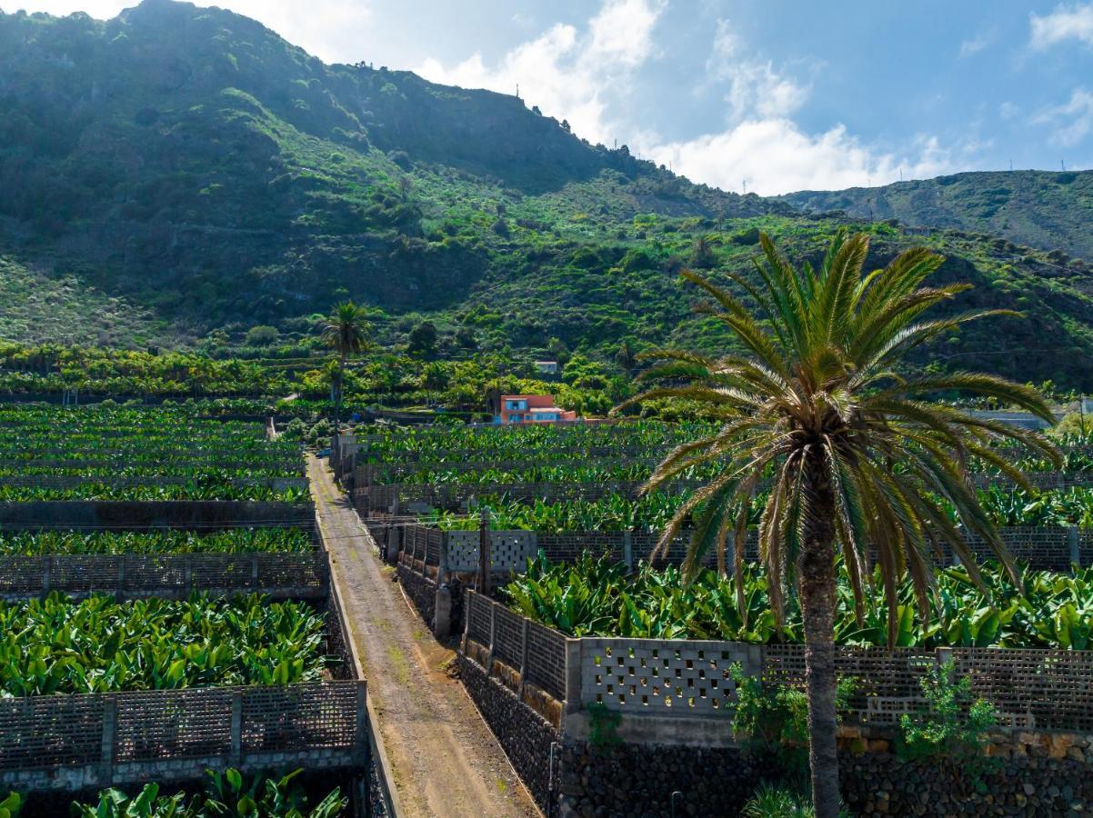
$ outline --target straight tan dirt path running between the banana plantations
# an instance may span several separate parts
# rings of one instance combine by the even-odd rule
[[[308,459],[333,581],[368,679],[400,816],[538,816],[497,740],[446,668],[325,461]]]

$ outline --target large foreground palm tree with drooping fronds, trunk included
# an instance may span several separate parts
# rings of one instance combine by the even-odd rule
[[[705,311],[728,327],[743,352],[719,358],[678,351],[645,355],[659,363],[643,378],[662,386],[627,403],[684,398],[700,402],[721,422],[716,434],[672,451],[645,486],[651,491],[691,466],[720,465],[718,476],[672,518],[654,553],[665,553],[693,517],[684,564],[689,580],[710,548],[724,570],[729,531],[736,543],[743,543],[760,479],[773,476],[759,524],[760,557],[771,578],[769,600],[779,624],[786,589],[796,585],[806,642],[813,799],[818,818],[834,818],[839,809],[836,560],[842,558],[848,573],[860,619],[867,590],[872,590],[868,546],[877,548],[893,641],[897,582],[910,576],[919,614],[928,619],[935,558],[943,544],[982,586],[974,556],[944,503],[955,509],[965,529],[990,544],[1016,580],[1013,560],[979,507],[965,466],[978,458],[1031,490],[991,443],[1011,438],[1051,460],[1058,452],[1038,432],[927,399],[959,390],[996,396],[1049,423],[1054,417],[1034,389],[990,375],[898,374],[901,358],[925,342],[974,319],[1013,315],[982,310],[922,318],[927,309],[969,286],[922,286],[942,263],[940,256],[907,250],[883,270],[863,275],[869,249],[865,235],[839,233],[819,270],[809,264],[794,269],[767,236],[761,236],[761,242],[756,280],[726,273],[750,301],[683,273],[714,299],[716,306]],[[743,548],[733,553],[742,600]]]

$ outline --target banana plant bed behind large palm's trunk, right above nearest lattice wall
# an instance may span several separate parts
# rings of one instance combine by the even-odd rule
[[[984,567],[987,593],[963,568],[938,576],[937,610],[917,614],[909,582],[898,589],[897,647],[1000,647],[1089,650],[1093,648],[1093,569],[1074,576],[1026,571],[1015,588],[994,564]],[[879,573],[873,583],[880,586]],[[504,595],[512,607],[569,636],[651,639],[725,639],[752,643],[802,641],[800,609],[790,596],[785,629],[771,613],[767,578],[757,566],[744,569],[743,606],[732,582],[713,570],[694,583],[679,570],[624,566],[585,555],[574,565],[553,565],[540,555]],[[841,572],[835,640],[848,645],[886,645],[889,608],[872,595],[859,623],[845,571]]]

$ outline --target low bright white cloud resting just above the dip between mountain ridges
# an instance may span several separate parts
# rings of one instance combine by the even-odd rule
[[[878,152],[836,126],[809,134],[789,119],[754,119],[720,133],[642,151],[693,181],[725,190],[773,195],[796,190],[837,190],[927,178],[951,169],[949,154],[936,139],[919,138],[914,156]]]

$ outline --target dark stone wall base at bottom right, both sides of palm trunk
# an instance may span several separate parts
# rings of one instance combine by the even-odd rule
[[[731,747],[595,747],[566,739],[560,756],[559,815],[580,818],[737,816],[761,781],[780,774],[776,759]],[[977,787],[951,770],[903,762],[889,752],[839,757],[846,807],[865,818],[1093,816],[1088,770],[1069,759],[999,759]]]

